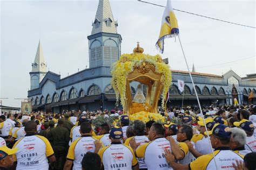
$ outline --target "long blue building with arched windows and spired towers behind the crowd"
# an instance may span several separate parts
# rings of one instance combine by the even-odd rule
[[[60,75],[46,71],[43,49],[39,41],[35,61],[30,74],[31,87],[28,100],[33,110],[62,112],[63,110],[104,110],[116,107],[116,95],[110,85],[111,65],[121,55],[122,37],[117,33],[118,23],[114,21],[109,0],[99,0],[89,40],[89,68],[60,79]],[[251,91],[256,93],[256,74],[239,77],[232,70],[224,75],[197,73],[192,77],[196,84],[201,105],[233,104],[237,98],[240,104],[248,103]],[[185,81],[181,94],[178,80]],[[132,94],[136,87],[131,87]],[[188,72],[172,70],[169,106],[197,105]],[[251,102],[256,102],[252,100]],[[122,107],[119,105],[119,107]]]

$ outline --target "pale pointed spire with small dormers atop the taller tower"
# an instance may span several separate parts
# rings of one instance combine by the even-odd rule
[[[117,22],[114,21],[109,0],[99,0],[96,17],[92,23],[91,34],[99,32],[117,33]]]

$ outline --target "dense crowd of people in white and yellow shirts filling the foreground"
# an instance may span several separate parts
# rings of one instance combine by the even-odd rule
[[[165,123],[122,110],[2,113],[0,169],[256,169],[256,106],[202,109],[159,112]]]

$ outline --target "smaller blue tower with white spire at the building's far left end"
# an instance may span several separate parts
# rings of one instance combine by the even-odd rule
[[[44,61],[43,49],[39,40],[35,61],[32,63],[32,71],[30,74],[30,90],[39,87],[39,82],[46,74],[46,63]]]

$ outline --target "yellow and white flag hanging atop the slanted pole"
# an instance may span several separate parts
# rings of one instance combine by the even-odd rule
[[[167,5],[164,10],[164,15],[161,23],[161,30],[159,34],[156,47],[161,53],[164,53],[164,39],[174,37],[179,34],[179,27],[176,16],[173,12],[171,0],[167,0]]]

